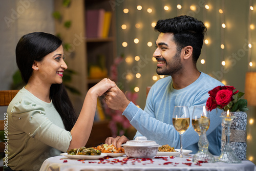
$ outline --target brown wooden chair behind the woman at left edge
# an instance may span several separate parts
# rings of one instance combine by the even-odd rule
[[[8,106],[12,101],[13,97],[18,93],[19,90],[2,90],[0,91],[0,106]],[[0,120],[0,131],[4,131],[5,123],[4,120]],[[4,153],[5,144],[0,142],[0,153]],[[3,167],[0,167],[0,171],[3,170]]]

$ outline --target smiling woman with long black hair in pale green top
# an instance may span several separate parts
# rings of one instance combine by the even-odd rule
[[[61,43],[52,34],[35,32],[17,44],[16,62],[26,86],[7,109],[12,170],[39,170],[46,158],[86,145],[97,98],[115,86],[105,78],[92,87],[77,118],[62,84],[68,67]]]

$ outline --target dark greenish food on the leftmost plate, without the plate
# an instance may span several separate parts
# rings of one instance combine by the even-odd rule
[[[90,156],[98,156],[101,155],[101,151],[94,148],[74,148],[67,151],[68,155],[90,155]]]

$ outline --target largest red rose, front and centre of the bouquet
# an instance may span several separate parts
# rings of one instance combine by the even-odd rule
[[[231,90],[220,90],[216,94],[216,102],[220,105],[220,108],[224,108],[232,99],[233,99],[233,91]]]

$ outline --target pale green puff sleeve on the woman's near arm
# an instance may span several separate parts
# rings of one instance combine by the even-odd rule
[[[72,139],[71,133],[50,121],[41,105],[22,99],[13,105],[10,113],[13,126],[18,132],[24,132],[59,151],[67,151]]]

